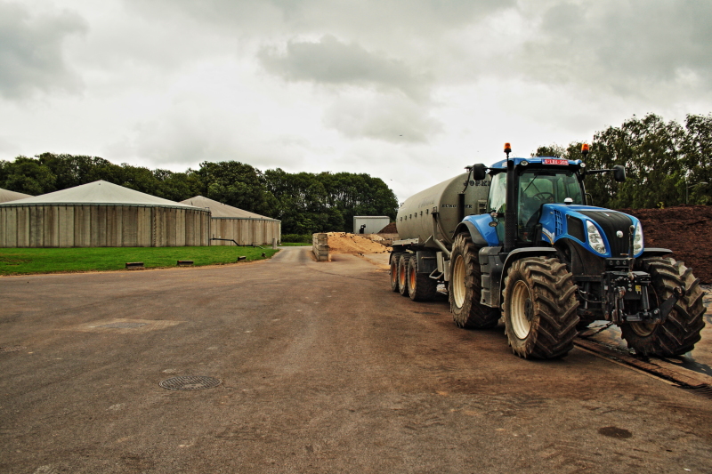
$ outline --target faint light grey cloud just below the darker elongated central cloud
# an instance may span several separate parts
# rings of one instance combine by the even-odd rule
[[[324,125],[354,139],[394,143],[425,143],[442,132],[439,121],[412,100],[378,95],[371,100],[338,100],[324,116]]]

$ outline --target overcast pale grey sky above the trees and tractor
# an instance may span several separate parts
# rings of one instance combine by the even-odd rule
[[[369,173],[399,200],[712,112],[706,0],[0,0],[0,159]]]

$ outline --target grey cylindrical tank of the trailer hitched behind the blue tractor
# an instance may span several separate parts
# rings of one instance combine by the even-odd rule
[[[398,237],[401,240],[417,238],[425,247],[437,248],[435,238],[449,245],[463,217],[487,212],[489,193],[490,177],[473,181],[469,173],[420,191],[406,199],[398,210]]]

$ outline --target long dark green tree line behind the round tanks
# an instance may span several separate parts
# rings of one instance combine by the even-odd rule
[[[204,162],[184,173],[114,165],[101,157],[55,155],[0,161],[0,188],[38,196],[104,180],[172,201],[204,196],[282,221],[284,234],[352,231],[354,215],[387,215],[398,200],[365,173],[262,172],[237,161]]]

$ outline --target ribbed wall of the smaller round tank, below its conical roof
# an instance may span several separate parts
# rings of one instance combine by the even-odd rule
[[[272,238],[282,239],[282,223],[266,219],[214,217],[210,234],[216,238],[231,238],[239,245],[271,245]],[[234,245],[224,240],[213,240],[210,245]]]

